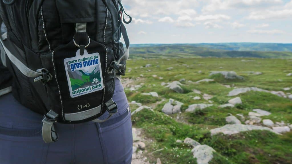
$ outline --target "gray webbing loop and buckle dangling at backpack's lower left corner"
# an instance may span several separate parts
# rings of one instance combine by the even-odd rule
[[[43,119],[42,134],[45,143],[51,143],[58,140],[58,135],[55,132],[54,122],[57,120],[58,114],[50,110]]]

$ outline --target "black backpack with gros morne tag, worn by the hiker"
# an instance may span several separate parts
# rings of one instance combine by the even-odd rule
[[[124,14],[120,0],[0,0],[3,65],[13,96],[44,115],[46,143],[58,140],[54,122],[103,122],[117,112],[114,79],[125,73],[123,22],[131,22]],[[109,118],[99,120],[105,111]]]

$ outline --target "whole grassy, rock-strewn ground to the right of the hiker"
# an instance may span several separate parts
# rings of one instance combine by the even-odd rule
[[[233,60],[129,62],[133,163],[292,163],[291,63]]]

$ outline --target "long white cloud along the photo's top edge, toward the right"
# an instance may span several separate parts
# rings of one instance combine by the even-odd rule
[[[266,8],[269,6],[281,5],[282,0],[211,0],[210,3],[203,7],[203,12],[217,10],[247,9],[247,8]]]

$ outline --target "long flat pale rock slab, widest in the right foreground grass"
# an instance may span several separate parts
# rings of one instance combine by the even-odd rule
[[[216,135],[218,133],[223,133],[225,135],[232,135],[232,134],[237,134],[239,132],[245,132],[245,131],[250,131],[250,130],[269,130],[271,132],[277,133],[274,130],[263,127],[263,126],[256,126],[256,125],[244,125],[244,124],[232,124],[232,125],[225,125],[221,128],[215,128],[212,129],[211,135]]]

